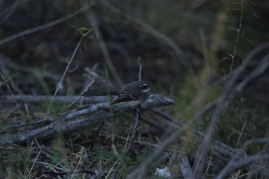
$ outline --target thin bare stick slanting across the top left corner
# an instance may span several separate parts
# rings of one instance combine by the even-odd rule
[[[4,39],[0,40],[0,45],[3,45],[4,43],[6,43],[6,42],[8,42],[10,40],[14,40],[14,39],[19,38],[19,37],[22,37],[24,35],[27,35],[27,34],[30,34],[30,33],[33,33],[33,32],[39,31],[39,30],[43,30],[45,28],[48,28],[48,27],[57,25],[59,23],[62,23],[64,21],[66,21],[66,20],[68,20],[68,19],[70,19],[70,18],[78,15],[79,13],[87,10],[88,8],[89,8],[89,5],[83,6],[81,9],[79,9],[79,10],[77,10],[77,11],[75,11],[75,12],[69,14],[69,15],[66,15],[66,16],[64,16],[62,18],[59,18],[59,19],[57,19],[55,21],[52,21],[52,22],[49,22],[47,24],[40,25],[40,26],[31,28],[31,29],[24,30],[24,31],[19,32],[17,34],[11,35],[11,36],[9,36],[7,38],[4,38]]]

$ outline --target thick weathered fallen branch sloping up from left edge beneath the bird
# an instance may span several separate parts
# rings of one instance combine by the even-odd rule
[[[143,102],[141,104],[142,108],[149,108],[149,107],[157,107],[157,106],[163,106],[163,105],[169,105],[172,104],[173,100],[163,96],[163,95],[150,95],[149,98]],[[71,122],[66,122],[67,120],[71,120],[75,117],[79,117],[82,115],[88,115],[91,114],[93,112],[101,112],[101,113],[94,113],[94,114],[98,114],[98,116],[94,116],[95,119],[96,118],[100,118],[102,117],[102,109],[108,109],[110,108],[109,102],[103,102],[103,103],[98,103],[95,105],[91,105],[91,107],[86,108],[86,109],[82,109],[79,111],[75,111],[72,113],[68,113],[65,116],[59,117],[57,120],[55,120],[55,122],[50,123],[49,125],[39,128],[39,129],[34,129],[28,132],[20,132],[14,135],[9,135],[9,134],[5,134],[2,137],[2,140],[0,140],[0,145],[4,145],[4,144],[11,144],[11,143],[16,143],[16,142],[23,142],[25,140],[28,140],[32,137],[35,137],[37,135],[40,135],[42,133],[46,133],[46,134],[42,134],[42,136],[44,138],[49,138],[52,137],[54,134],[57,134],[57,129],[61,128],[61,130],[64,130],[65,133],[71,133],[71,132],[76,132],[79,131],[80,128],[85,127],[84,124],[85,122],[87,122],[88,120],[92,120],[90,116],[90,118],[88,117],[84,117],[84,118],[80,118],[76,121],[71,121]],[[121,106],[121,104],[114,104],[114,108],[113,110],[115,110],[115,112],[117,113],[121,113],[121,111],[123,111],[126,108],[123,108]],[[100,111],[101,110],[101,111]],[[111,116],[113,116],[114,114],[112,114]],[[117,114],[115,114],[117,115]],[[106,117],[111,117],[109,114],[103,116],[103,120],[99,120],[99,121],[91,121],[87,123],[88,127],[90,127],[91,125],[96,125],[99,123],[102,123],[104,119]],[[54,120],[52,120],[54,121]],[[58,127],[58,128],[56,128]],[[40,136],[38,136],[37,138],[40,138]]]

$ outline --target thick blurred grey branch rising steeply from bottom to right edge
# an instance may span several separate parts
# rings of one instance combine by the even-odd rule
[[[268,43],[268,45],[269,45],[269,43]],[[259,49],[259,47],[254,49],[254,51],[257,49]],[[248,61],[246,61],[246,63],[247,62],[249,63],[249,60],[250,60],[250,58],[248,59]],[[217,126],[219,118],[221,117],[221,114],[228,107],[229,103],[232,101],[232,99],[234,98],[236,93],[242,91],[250,81],[253,81],[254,79],[256,79],[257,77],[259,77],[261,74],[263,74],[265,72],[265,70],[269,66],[269,54],[263,58],[261,63],[258,65],[258,67],[256,67],[250,75],[248,75],[241,83],[239,83],[238,85],[235,85],[236,80],[239,78],[239,75],[244,71],[244,69],[246,67],[246,63],[243,64],[242,65],[243,67],[238,70],[238,72],[236,73],[236,76],[234,76],[231,79],[231,81],[230,81],[231,83],[229,84],[227,90],[221,95],[221,97],[218,100],[216,113],[212,117],[212,120],[211,120],[211,126],[205,135],[203,143],[199,147],[200,150],[198,150],[198,152],[196,154],[195,167],[198,170],[197,170],[197,172],[195,171],[196,172],[195,176],[197,178],[199,178],[199,176],[201,176],[201,173],[203,171],[203,164],[205,163],[207,153],[209,151],[210,142],[212,140],[213,133],[215,131],[215,128]],[[235,85],[235,87],[234,87],[234,85]],[[203,152],[201,152],[201,148],[205,148],[205,150]],[[205,155],[203,155],[203,157],[201,158],[201,164],[202,164],[201,167],[198,168],[199,163],[198,163],[197,159],[200,158],[199,156],[202,156],[202,153],[205,153]]]

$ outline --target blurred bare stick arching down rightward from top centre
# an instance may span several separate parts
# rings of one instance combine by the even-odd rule
[[[129,15],[127,13],[124,13],[119,8],[115,7],[110,2],[108,2],[107,0],[99,0],[99,1],[101,1],[104,5],[109,7],[114,12],[123,15],[128,20],[133,21],[134,23],[136,23],[139,26],[143,27],[149,34],[154,36],[161,43],[164,43],[164,44],[167,44],[168,46],[170,46],[176,52],[176,55],[181,60],[181,63],[183,64],[185,69],[188,70],[191,73],[191,75],[195,75],[194,69],[192,68],[191,62],[188,59],[187,55],[171,39],[169,39],[164,34],[158,32],[157,30],[155,30],[153,27],[146,24],[145,22],[142,22],[141,19],[137,20],[136,18],[132,17],[131,15]]]

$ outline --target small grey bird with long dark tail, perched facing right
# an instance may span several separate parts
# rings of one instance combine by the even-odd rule
[[[143,103],[150,94],[150,86],[145,81],[136,81],[126,85],[123,89],[111,91],[89,90],[83,92],[82,96],[104,96],[118,95],[111,104],[125,102],[125,106],[135,106]]]

